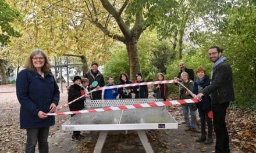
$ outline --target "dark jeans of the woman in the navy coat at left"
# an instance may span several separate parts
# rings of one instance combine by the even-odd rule
[[[26,143],[26,153],[34,153],[35,145],[38,141],[39,152],[47,153],[48,148],[48,135],[49,127],[47,128],[33,128],[27,129],[27,143]]]

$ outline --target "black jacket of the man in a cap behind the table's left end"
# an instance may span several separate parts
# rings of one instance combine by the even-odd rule
[[[101,72],[98,71],[96,77],[94,77],[93,75],[93,72],[92,70],[88,71],[86,73],[86,75],[84,75],[84,78],[88,78],[89,79],[89,86],[91,85],[91,83],[93,83],[94,81],[97,81],[98,82],[98,86],[102,87],[105,85],[105,81],[104,81],[104,77],[103,75],[101,74]],[[94,88],[91,88],[90,90],[93,90],[95,89],[96,87]],[[97,100],[97,99],[102,99],[101,97],[101,94],[102,94],[102,90],[98,90],[96,92],[92,92],[91,95],[93,97],[93,100]]]

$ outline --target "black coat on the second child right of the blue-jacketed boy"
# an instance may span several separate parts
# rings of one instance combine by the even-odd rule
[[[144,80],[135,81],[134,83],[142,83]],[[143,86],[134,86],[133,92],[135,93],[135,98],[136,99],[147,99],[148,98],[148,86],[143,85]]]

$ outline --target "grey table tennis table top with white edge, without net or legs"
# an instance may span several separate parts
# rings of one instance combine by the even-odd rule
[[[62,130],[147,130],[177,129],[178,123],[165,107],[76,114]]]

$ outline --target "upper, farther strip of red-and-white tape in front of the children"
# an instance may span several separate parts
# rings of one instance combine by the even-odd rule
[[[93,89],[91,90],[89,93],[92,93],[92,92],[95,92],[95,91],[98,91],[98,90],[105,90],[105,89],[114,89],[114,88],[124,88],[124,87],[130,87],[130,86],[142,86],[142,85],[155,85],[155,84],[162,84],[162,83],[177,83],[177,80],[174,79],[174,80],[165,80],[165,81],[152,81],[152,82],[141,82],[141,83],[131,83],[131,84],[125,84],[125,85],[115,85],[115,86],[103,86],[99,89]],[[61,108],[63,107],[67,107],[69,104],[72,104],[74,103],[75,101],[83,98],[83,96],[80,96],[78,97],[77,99],[74,99],[72,101],[70,101],[68,104],[64,104],[64,105],[61,105],[60,107],[57,107],[57,111],[58,110],[61,110]]]

